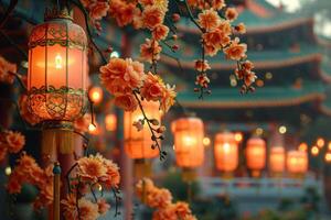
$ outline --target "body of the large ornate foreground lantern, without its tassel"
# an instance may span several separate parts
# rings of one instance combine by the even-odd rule
[[[51,68],[49,66],[47,56],[51,53],[51,50],[54,50],[53,46],[58,45],[58,50],[62,52],[65,50],[64,59],[64,74],[65,84],[63,86],[50,85],[47,76],[52,73],[47,73]],[[31,113],[41,119],[43,125],[46,128],[63,128],[72,129],[72,121],[84,116],[88,107],[88,97],[87,97],[87,37],[84,30],[73,23],[73,19],[67,11],[67,9],[58,10],[52,9],[45,11],[45,22],[34,26],[29,38],[29,74],[28,74],[28,106]],[[33,53],[38,53],[34,48],[43,48],[44,51],[44,67],[41,67],[40,72],[44,72],[44,76],[35,76],[33,74],[36,68],[33,62]],[[63,48],[62,48],[63,47]],[[77,50],[77,51],[70,51]],[[68,68],[70,57],[77,56],[75,53],[82,55],[81,65],[81,76],[78,88],[72,87],[74,80],[71,77],[77,77],[78,73],[75,73],[76,69]],[[53,53],[53,52],[52,52]],[[70,54],[71,53],[71,54]],[[42,56],[42,55],[41,55]],[[57,56],[57,55],[56,55]],[[55,56],[55,67],[56,68],[56,56]],[[35,58],[35,57],[34,57]],[[62,59],[61,59],[62,61]],[[84,64],[85,63],[85,64]],[[62,65],[62,64],[61,64]],[[52,70],[52,69],[51,69]],[[62,70],[62,67],[61,67]],[[74,73],[73,73],[74,72]],[[40,87],[34,86],[32,77],[40,77],[35,80],[41,80],[44,78]],[[71,79],[70,79],[71,78]],[[54,79],[53,79],[54,81]]]

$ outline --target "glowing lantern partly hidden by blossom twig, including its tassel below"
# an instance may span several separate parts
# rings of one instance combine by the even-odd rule
[[[156,101],[142,101],[145,113],[149,119],[156,119],[161,122],[161,112],[159,103]],[[148,177],[151,173],[149,158],[157,157],[159,151],[152,148],[153,141],[151,139],[150,130],[147,124],[143,125],[141,131],[138,131],[132,124],[142,120],[143,116],[140,109],[134,112],[126,111],[124,114],[124,139],[126,154],[135,160],[135,173],[137,179]],[[161,144],[161,142],[159,142]]]

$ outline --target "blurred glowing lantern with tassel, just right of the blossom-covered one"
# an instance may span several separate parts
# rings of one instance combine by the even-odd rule
[[[195,117],[180,118],[171,123],[171,131],[177,165],[183,168],[183,179],[192,182],[195,178],[194,168],[204,161],[203,122]]]

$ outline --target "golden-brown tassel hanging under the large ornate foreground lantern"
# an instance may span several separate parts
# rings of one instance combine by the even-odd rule
[[[74,132],[72,130],[47,129],[43,131],[42,153],[54,155],[72,154],[74,152]]]

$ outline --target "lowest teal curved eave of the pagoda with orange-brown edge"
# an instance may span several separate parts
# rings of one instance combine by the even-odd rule
[[[241,109],[241,108],[275,108],[291,107],[306,102],[321,102],[325,99],[323,86],[318,84],[310,88],[278,88],[257,89],[253,95],[235,96],[236,89],[214,89],[213,94],[204,100],[197,100],[194,94],[181,92],[178,99],[186,108],[218,108],[218,109]],[[232,95],[229,95],[232,94]],[[266,95],[265,95],[266,94]]]

